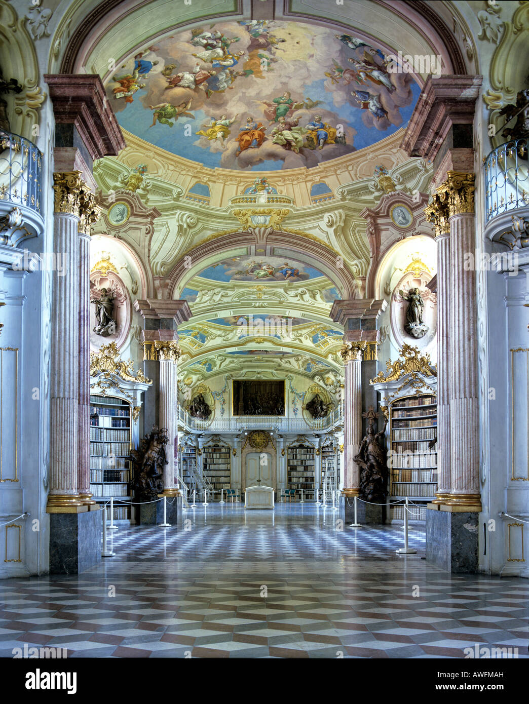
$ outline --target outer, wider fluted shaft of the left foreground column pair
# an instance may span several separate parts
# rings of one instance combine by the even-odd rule
[[[64,258],[54,271],[51,303],[50,491],[48,503],[81,505],[77,497],[79,299],[77,224],[73,213],[54,215],[54,251]],[[61,274],[61,275],[59,275]]]

